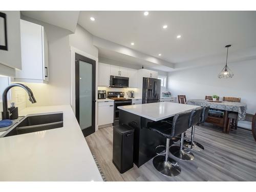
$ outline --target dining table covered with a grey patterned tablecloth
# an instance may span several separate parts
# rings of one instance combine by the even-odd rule
[[[186,104],[197,105],[197,106],[210,106],[210,109],[223,110],[224,111],[223,122],[221,121],[220,123],[213,123],[213,124],[222,125],[221,127],[223,128],[223,132],[226,132],[227,130],[228,113],[230,112],[238,113],[238,120],[245,120],[245,117],[246,117],[247,104],[243,102],[189,99],[186,101]],[[212,117],[208,117],[208,120],[206,120],[206,122],[211,122],[210,120],[214,121],[215,119]],[[217,118],[215,122],[217,122]]]

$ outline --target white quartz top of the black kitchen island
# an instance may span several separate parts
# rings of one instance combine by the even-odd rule
[[[173,102],[156,102],[118,106],[118,109],[120,110],[133,113],[153,121],[159,121],[168,117],[173,117],[175,114],[195,110],[198,108],[200,108],[200,106]]]

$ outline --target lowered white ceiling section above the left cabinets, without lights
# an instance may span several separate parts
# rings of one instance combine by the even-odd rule
[[[80,11],[22,11],[22,14],[42,22],[75,32]]]

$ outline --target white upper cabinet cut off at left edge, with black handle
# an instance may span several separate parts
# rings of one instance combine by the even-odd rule
[[[20,51],[20,12],[1,11],[0,17],[0,75],[15,76],[15,69],[22,69],[22,56]],[[5,18],[4,18],[5,17]],[[5,38],[4,22],[6,22]],[[3,32],[3,33],[2,33]]]

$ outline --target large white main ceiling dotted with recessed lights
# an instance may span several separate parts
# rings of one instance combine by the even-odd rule
[[[147,16],[143,11],[80,11],[78,18],[95,36],[154,57],[161,53],[159,58],[171,63],[223,55],[228,44],[230,53],[255,47],[255,21],[256,11],[149,11]],[[106,53],[99,50],[101,56]]]

